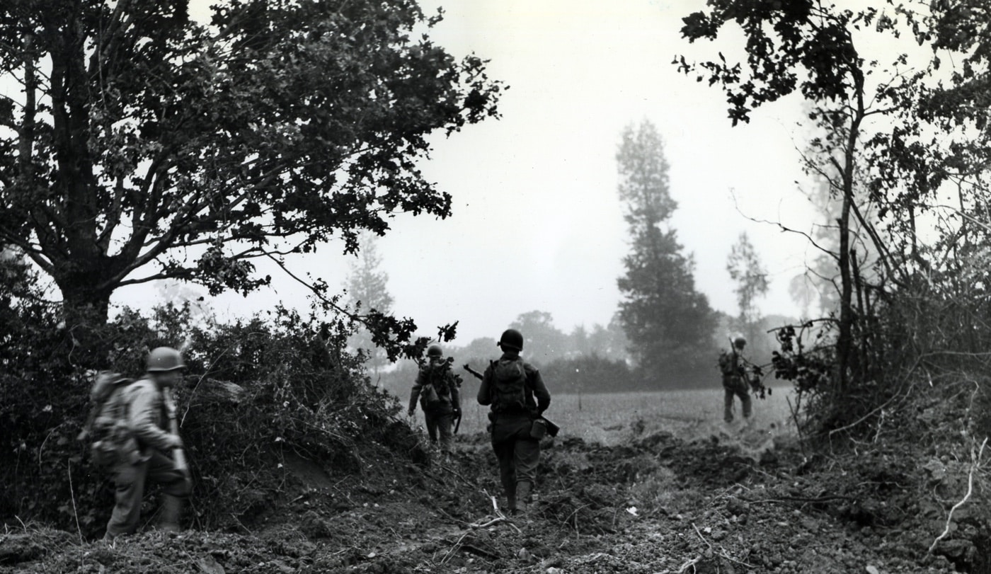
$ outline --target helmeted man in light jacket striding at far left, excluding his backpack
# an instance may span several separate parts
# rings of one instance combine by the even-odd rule
[[[112,466],[116,504],[107,522],[105,539],[132,534],[138,529],[146,483],[161,484],[161,527],[178,530],[183,501],[192,481],[182,455],[171,390],[182,380],[182,357],[169,347],[148,355],[147,374],[121,390],[122,423],[129,431],[129,444],[136,450],[121,452]]]

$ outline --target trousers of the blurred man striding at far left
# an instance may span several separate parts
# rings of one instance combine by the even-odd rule
[[[133,534],[138,529],[147,483],[163,485],[163,525],[178,525],[179,510],[192,491],[192,481],[185,473],[175,470],[174,461],[165,453],[151,449],[148,460],[121,463],[114,469],[116,504],[107,522],[108,537]]]

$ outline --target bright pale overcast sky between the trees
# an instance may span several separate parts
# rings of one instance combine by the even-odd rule
[[[429,14],[436,2],[422,6]],[[815,251],[802,237],[744,215],[811,229],[808,200],[795,183],[808,187],[796,151],[804,137],[799,102],[778,102],[754,114],[750,125],[731,128],[722,92],[677,72],[676,55],[714,53],[712,46],[690,46],[679,33],[681,18],[704,2],[442,5],[435,42],[457,57],[490,59],[490,76],[510,89],[499,103],[501,119],[436,138],[432,159],[422,166],[453,196],[453,216],[399,216],[380,240],[396,314],[415,319],[425,335],[460,321],[458,344],[497,337],[531,310],[550,312],[565,332],[606,324],[619,302],[616,279],[628,251],[614,156],[623,127],[644,119],[666,142],[679,204],[672,223],[694,254],[697,288],[714,308],[736,313],[725,265],[745,231],[771,276],[764,312],[798,314],[788,283]],[[726,44],[716,48],[733,53]],[[349,258],[340,253],[340,244],[328,245],[293,261],[293,269],[343,285]],[[262,269],[273,275],[274,288],[247,299],[219,297],[214,304],[222,318],[278,300],[305,306],[305,289],[278,270]],[[145,306],[159,295],[127,287],[115,301]]]

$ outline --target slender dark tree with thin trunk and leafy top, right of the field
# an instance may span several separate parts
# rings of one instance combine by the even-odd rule
[[[839,203],[835,218],[837,247],[831,255],[839,272],[834,380],[842,396],[851,376],[863,375],[855,373],[858,369],[854,366],[857,260],[853,222],[868,232],[874,230],[857,201],[858,185],[867,177],[863,172],[870,168],[861,155],[865,124],[872,116],[890,113],[893,106],[887,92],[910,83],[918,73],[903,74],[898,70],[902,59],[897,59],[894,71],[886,74],[888,81],[881,80],[880,85],[874,86],[878,97],[872,97],[868,76],[879,64],[860,55],[854,34],[872,26],[892,30],[895,23],[871,7],[854,12],[813,0],[714,0],[684,22],[682,34],[690,42],[716,41],[724,28],[738,26],[743,33],[745,63],[727,60],[722,54],[718,60],[699,64],[689,63],[684,57],[675,60],[686,73],[698,73],[697,79],[708,79],[725,91],[733,125],[748,122],[754,108],[795,91],[813,106],[809,118],[820,137],[812,141],[805,167],[828,182],[830,195]],[[880,243],[880,238],[876,242]]]

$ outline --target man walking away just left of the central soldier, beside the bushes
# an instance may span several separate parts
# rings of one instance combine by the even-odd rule
[[[440,448],[450,454],[454,435],[451,431],[454,420],[461,416],[460,378],[451,372],[451,361],[445,360],[440,345],[427,348],[427,361],[416,374],[416,382],[409,396],[409,412],[416,412],[419,400],[423,408],[423,418],[427,424],[430,442],[437,444],[440,432]]]

